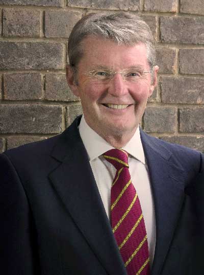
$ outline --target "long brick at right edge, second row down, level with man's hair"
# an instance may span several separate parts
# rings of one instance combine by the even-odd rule
[[[203,18],[161,17],[160,30],[163,42],[204,44]]]

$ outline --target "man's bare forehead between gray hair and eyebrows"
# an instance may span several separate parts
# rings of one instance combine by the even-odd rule
[[[148,66],[146,45],[118,45],[116,42],[98,37],[88,37],[82,42],[83,57],[81,66],[92,68],[126,68],[129,66]]]

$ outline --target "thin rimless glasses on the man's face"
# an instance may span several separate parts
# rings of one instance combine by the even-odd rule
[[[145,78],[146,73],[152,73],[152,71],[145,71],[140,68],[125,69],[121,72],[114,72],[112,70],[95,70],[84,75],[88,75],[91,80],[97,83],[107,83],[113,79],[116,74],[120,74],[125,81],[135,82]]]

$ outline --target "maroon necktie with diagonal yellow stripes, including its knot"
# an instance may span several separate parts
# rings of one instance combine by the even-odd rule
[[[149,275],[149,253],[144,218],[131,181],[128,153],[111,149],[104,154],[116,168],[111,188],[111,225],[128,275]]]

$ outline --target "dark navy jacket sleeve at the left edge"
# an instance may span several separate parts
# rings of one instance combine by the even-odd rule
[[[4,275],[40,274],[32,213],[20,178],[0,154],[0,266]]]

